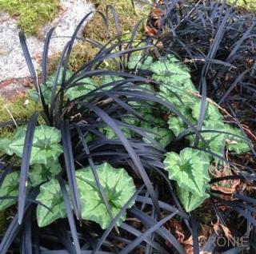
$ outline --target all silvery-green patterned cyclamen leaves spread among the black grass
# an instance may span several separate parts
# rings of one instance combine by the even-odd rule
[[[148,57],[145,62],[141,62],[138,56],[133,56],[130,58],[130,62],[128,62],[128,68],[150,70],[153,73],[151,78],[155,81],[162,82],[162,86],[160,86],[160,91],[158,92],[159,95],[162,96],[164,100],[170,101],[170,103],[175,105],[190,122],[197,125],[201,101],[197,96],[197,89],[195,89],[190,80],[188,69],[186,69],[185,65],[181,65],[177,58],[169,56],[168,58],[160,58],[154,61],[153,58]],[[67,70],[66,73],[66,77],[72,77],[73,75],[70,70]],[[102,83],[100,85],[102,86],[108,84],[110,81],[122,80],[122,77],[104,76],[101,80]],[[50,91],[52,89],[52,85],[50,84],[52,84],[53,81],[54,77],[50,77],[46,85],[43,86],[46,87],[46,89],[42,89],[42,95],[46,102],[50,101]],[[82,79],[81,82],[85,85],[75,86],[66,91],[65,95],[67,99],[71,101],[77,97],[86,96],[87,93],[93,91],[98,86],[90,77]],[[152,85],[144,85],[144,87],[154,90]],[[37,98],[35,94],[37,93],[33,90],[31,93],[32,98]],[[142,107],[140,103],[134,105],[134,109],[141,114],[143,120],[136,121],[136,119],[132,119],[132,115],[124,117],[123,119],[127,120],[130,117],[130,121],[132,120],[136,126],[143,129],[145,133],[148,133],[162,148],[166,148],[174,137],[178,137],[178,135],[188,129],[188,126],[180,117],[166,111],[164,108],[159,111],[158,116],[156,116],[153,109]],[[165,121],[162,117],[162,113],[164,112],[168,115],[168,121]],[[168,127],[166,126],[166,122],[168,123]],[[152,123],[157,126],[154,127]],[[216,154],[216,156],[222,156],[224,149],[230,149],[236,153],[250,150],[248,143],[241,141],[243,136],[241,131],[224,124],[222,114],[218,111],[214,102],[210,100],[206,102],[205,119],[202,125],[202,130],[204,129],[206,129],[206,133],[202,133],[204,142],[199,141],[198,147],[203,148],[208,145],[213,154],[210,155],[206,152],[198,151],[197,149],[186,148],[182,149],[179,155],[174,152],[166,153],[166,159],[164,161],[165,169],[169,173],[170,180],[178,182],[178,196],[187,212],[197,208],[199,204],[202,204],[203,200],[209,197],[206,193],[206,189],[209,189],[207,182],[210,181],[208,168],[214,158],[218,160],[218,157],[214,157],[214,154]],[[222,130],[221,133],[219,132],[220,129]],[[110,127],[100,128],[100,130],[108,139],[114,139],[115,134]],[[127,128],[123,129],[123,131],[126,137],[130,138],[134,136],[134,133]],[[223,133],[223,131],[226,131],[226,133]],[[15,154],[17,157],[22,157],[25,134],[26,128],[19,127],[12,141],[6,138],[2,139],[2,151],[8,155]],[[194,135],[186,136],[186,138],[190,141],[190,145],[194,144]],[[94,134],[87,137],[88,141],[94,139],[97,139],[97,136]],[[147,138],[144,139],[145,141],[148,140]],[[54,127],[39,125],[34,129],[28,186],[36,187],[41,185],[37,198],[41,203],[38,205],[37,210],[39,226],[46,226],[58,218],[66,217],[62,192],[59,188],[58,181],[54,180],[54,177],[58,176],[62,169],[58,162],[58,157],[63,152],[60,141],[61,132]],[[96,169],[104,192],[106,192],[106,196],[110,199],[108,202],[110,203],[111,201],[113,205],[115,202],[118,202],[118,205],[114,205],[110,208],[113,216],[116,216],[122,209],[122,206],[126,204],[126,201],[129,200],[130,196],[134,194],[135,187],[132,184],[132,179],[126,174],[124,169],[114,170],[114,168],[107,163],[98,165]],[[78,177],[78,173],[80,177]],[[84,206],[82,206],[82,219],[97,221],[102,225],[102,228],[106,228],[110,223],[110,216],[107,214],[104,203],[101,202],[101,196],[98,194],[97,185],[94,182],[94,177],[90,169],[79,169],[76,171],[75,175],[78,182],[81,202],[84,204]],[[88,180],[83,180],[83,176],[87,176],[86,179]],[[0,189],[1,196],[6,196],[8,193],[13,193],[14,195],[18,194],[18,185],[16,185],[16,189],[14,189],[13,181],[11,181],[13,178],[18,179],[18,172],[6,176],[5,181],[3,181],[4,188]],[[127,182],[130,182],[131,185],[126,185]],[[119,185],[121,186],[119,187]],[[94,192],[95,194],[93,194]],[[112,194],[110,195],[108,192],[112,192]],[[49,195],[50,193],[51,195]],[[96,202],[95,204],[90,201],[92,196],[94,196],[92,201]],[[120,203],[118,200],[122,200],[122,202]],[[5,200],[0,205],[0,208],[4,209],[11,204],[14,204],[14,200]],[[94,208],[90,210],[92,215],[90,215],[90,212],[86,212],[88,208],[89,210],[90,208]]]

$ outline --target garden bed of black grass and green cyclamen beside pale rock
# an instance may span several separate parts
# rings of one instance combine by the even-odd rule
[[[20,36],[34,88],[2,102],[0,252],[254,253],[254,14],[158,1],[143,28],[118,7],[39,85]]]

